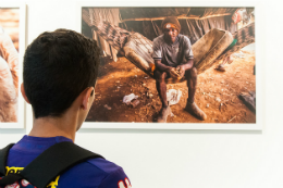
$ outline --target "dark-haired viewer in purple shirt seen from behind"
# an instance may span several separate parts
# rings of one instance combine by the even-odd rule
[[[8,175],[28,168],[59,142],[74,142],[95,99],[99,52],[95,40],[67,29],[42,33],[27,47],[21,91],[33,108],[33,128],[9,150]],[[15,184],[23,183],[28,185]],[[47,187],[131,188],[131,184],[122,167],[95,158],[78,161]]]

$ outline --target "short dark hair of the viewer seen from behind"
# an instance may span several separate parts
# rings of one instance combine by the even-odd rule
[[[24,89],[35,118],[60,116],[87,87],[95,87],[99,47],[67,29],[39,35],[24,55]]]

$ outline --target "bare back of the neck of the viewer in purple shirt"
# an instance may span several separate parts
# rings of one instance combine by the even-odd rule
[[[28,136],[57,137],[63,136],[75,140],[76,117],[39,117],[34,120],[33,129]]]

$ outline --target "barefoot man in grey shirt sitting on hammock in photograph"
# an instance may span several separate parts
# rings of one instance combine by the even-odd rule
[[[158,122],[167,122],[168,115],[171,114],[170,106],[167,101],[167,84],[165,78],[173,77],[181,79],[185,77],[187,80],[188,98],[185,110],[197,118],[204,121],[207,118],[194,102],[197,68],[194,67],[194,55],[189,39],[180,34],[181,25],[176,17],[167,17],[162,24],[163,35],[153,39],[153,53],[156,70],[153,72],[156,86],[162,102],[162,109],[158,116]]]

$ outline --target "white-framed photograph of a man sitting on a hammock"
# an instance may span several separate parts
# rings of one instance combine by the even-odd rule
[[[77,32],[101,49],[83,127],[261,130],[259,5],[77,10]]]

